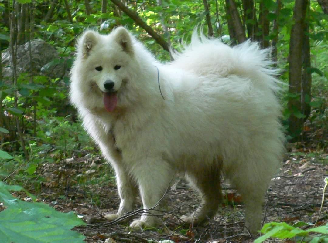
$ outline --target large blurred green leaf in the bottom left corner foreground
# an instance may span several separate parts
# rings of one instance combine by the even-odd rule
[[[73,212],[61,213],[38,202],[25,202],[11,196],[20,190],[0,181],[0,243],[83,243],[85,236],[71,229],[84,222]]]

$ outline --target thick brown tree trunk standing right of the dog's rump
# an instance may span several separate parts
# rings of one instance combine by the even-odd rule
[[[289,117],[289,133],[293,137],[292,141],[299,141],[303,127],[302,114],[302,49],[305,38],[304,26],[306,7],[308,0],[296,0],[291,34],[289,43],[289,89],[290,95],[295,96],[288,101],[288,109],[291,112]]]

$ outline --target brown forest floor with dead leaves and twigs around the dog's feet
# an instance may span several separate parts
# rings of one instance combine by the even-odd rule
[[[319,222],[326,222],[327,200],[320,216],[319,210],[324,178],[328,175],[327,160],[328,154],[324,151],[316,153],[306,149],[290,149],[280,173],[272,179],[269,187],[263,210],[264,223],[315,223],[318,218]],[[166,227],[132,231],[128,223],[110,225],[102,217],[106,213],[116,212],[119,197],[115,180],[111,177],[113,174],[110,166],[100,157],[87,155],[78,159],[44,164],[40,173],[46,181],[43,182],[41,193],[38,194],[39,200],[59,211],[74,211],[83,216],[87,225],[75,230],[86,235],[85,241],[88,243],[149,243],[151,240],[162,243],[254,241],[244,225],[242,199],[225,182],[223,194],[226,195],[226,203],[208,223],[197,227],[181,225],[178,216],[195,211],[199,205],[199,197],[184,179],[177,179],[166,195],[167,211],[170,212],[163,216]],[[105,179],[99,179],[104,175],[107,175]],[[82,183],[80,178],[86,179]],[[326,192],[326,198],[327,196]],[[136,205],[136,208],[140,206],[141,203]]]

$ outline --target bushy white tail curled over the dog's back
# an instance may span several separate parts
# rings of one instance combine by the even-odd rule
[[[194,70],[197,67],[193,63],[203,66],[203,70],[216,69],[222,76],[250,77],[253,82],[265,82],[275,92],[283,84],[276,78],[281,70],[274,67],[271,48],[261,49],[257,42],[250,40],[230,47],[220,39],[206,37],[200,28],[200,33],[198,29],[194,30],[191,43],[184,44],[181,53],[174,52],[172,55],[176,62],[188,62]]]

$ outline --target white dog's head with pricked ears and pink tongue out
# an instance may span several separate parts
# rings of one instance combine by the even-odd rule
[[[74,104],[80,100],[89,109],[112,112],[124,103],[125,86],[136,68],[132,38],[123,27],[108,35],[88,30],[80,37],[71,74]]]

